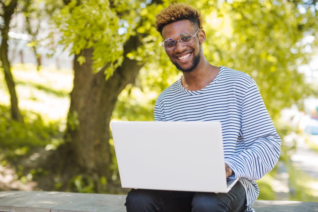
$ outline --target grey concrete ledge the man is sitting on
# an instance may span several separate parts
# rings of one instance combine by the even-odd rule
[[[0,192],[0,212],[124,212],[126,195],[45,191]],[[256,201],[256,212],[318,212],[318,202]]]

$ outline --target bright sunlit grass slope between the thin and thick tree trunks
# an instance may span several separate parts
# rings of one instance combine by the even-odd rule
[[[12,65],[12,74],[16,82],[16,92],[21,110],[40,114],[45,123],[51,121],[66,122],[70,105],[69,93],[73,88],[72,70],[43,67],[37,71],[36,66],[32,64],[14,64]],[[0,105],[10,106],[9,92],[4,74],[1,71]]]

